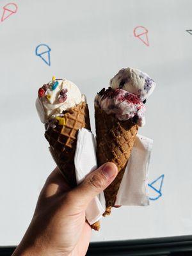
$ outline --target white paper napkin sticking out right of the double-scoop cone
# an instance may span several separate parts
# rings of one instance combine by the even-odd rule
[[[148,165],[153,141],[137,135],[115,205],[149,205]]]

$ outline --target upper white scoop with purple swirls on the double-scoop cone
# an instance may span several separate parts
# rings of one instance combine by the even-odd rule
[[[136,94],[142,101],[154,91],[156,83],[146,73],[137,68],[122,68],[110,81],[113,89],[120,88]]]

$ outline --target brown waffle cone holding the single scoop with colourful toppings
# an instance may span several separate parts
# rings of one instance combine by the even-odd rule
[[[77,133],[81,128],[90,128],[88,105],[83,102],[70,108],[64,116],[54,120],[56,127],[45,131],[54,161],[71,188],[77,186],[74,156],[76,152]],[[99,221],[92,228],[99,230]]]

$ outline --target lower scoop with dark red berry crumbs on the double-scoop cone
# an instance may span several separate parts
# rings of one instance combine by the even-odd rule
[[[95,106],[108,115],[114,114],[118,120],[134,118],[139,126],[145,125],[145,105],[140,97],[122,89],[102,89],[95,97]]]

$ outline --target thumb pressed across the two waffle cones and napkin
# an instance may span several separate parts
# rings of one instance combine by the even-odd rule
[[[95,196],[111,184],[117,173],[118,170],[114,163],[103,164],[90,173],[73,191],[76,202],[86,208]]]

